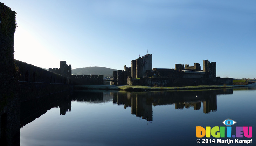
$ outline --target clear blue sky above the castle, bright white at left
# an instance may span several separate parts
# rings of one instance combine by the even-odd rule
[[[16,11],[14,58],[35,66],[124,70],[217,64],[217,76],[255,78],[255,0],[0,0]]]

